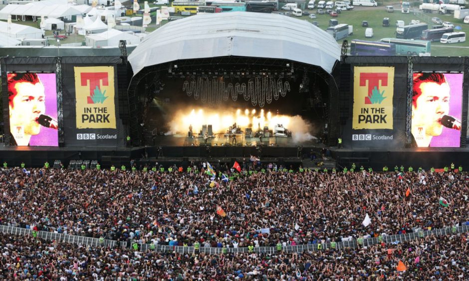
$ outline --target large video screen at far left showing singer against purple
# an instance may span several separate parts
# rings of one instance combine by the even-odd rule
[[[55,73],[8,73],[12,144],[58,146]]]

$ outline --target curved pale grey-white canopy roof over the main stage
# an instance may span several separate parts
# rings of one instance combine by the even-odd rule
[[[340,47],[331,35],[306,20],[255,12],[206,13],[153,31],[129,61],[135,75],[151,65],[223,56],[287,59],[331,73],[340,59]]]

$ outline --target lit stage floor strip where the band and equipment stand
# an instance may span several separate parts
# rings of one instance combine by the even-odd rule
[[[207,144],[211,146],[222,146],[222,145],[236,145],[236,146],[257,146],[260,143],[259,138],[249,138],[245,135],[236,134],[236,144],[234,144],[232,137],[226,137],[225,134],[216,134],[213,137],[207,139]],[[295,138],[286,137],[263,137],[262,145],[269,146],[283,146],[283,147],[296,147],[296,146],[316,146],[324,147],[324,144],[317,143],[317,139],[312,140],[297,140]],[[205,145],[203,137],[192,137],[182,135],[171,135],[171,136],[156,136],[154,143],[151,145],[156,146],[199,146]],[[148,145],[148,143],[147,143]]]

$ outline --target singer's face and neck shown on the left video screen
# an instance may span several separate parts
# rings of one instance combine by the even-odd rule
[[[16,83],[17,94],[10,103],[10,127],[22,126],[24,134],[38,135],[41,129],[37,118],[45,112],[44,85]]]

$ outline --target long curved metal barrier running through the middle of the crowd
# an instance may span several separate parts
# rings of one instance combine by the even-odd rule
[[[14,235],[32,236],[31,229],[12,227],[12,226],[0,225],[0,232],[14,234]],[[467,233],[467,232],[469,232],[469,225],[463,225],[463,226],[458,226],[458,227],[446,227],[446,228],[441,228],[441,229],[418,231],[418,232],[412,232],[412,233],[406,233],[406,234],[386,235],[386,236],[379,236],[379,237],[366,238],[366,239],[352,239],[350,241],[341,241],[341,242],[335,242],[335,243],[284,246],[282,247],[282,251],[285,253],[302,253],[302,252],[322,251],[322,250],[327,250],[327,249],[342,250],[344,248],[367,247],[367,246],[380,244],[382,242],[386,244],[391,244],[391,243],[396,243],[397,241],[400,243],[403,241],[416,240],[416,239],[424,238],[424,237],[431,236],[431,235],[444,236],[444,235],[449,235],[449,234],[458,234],[458,233]],[[103,243],[100,243],[98,238],[53,233],[53,232],[47,232],[47,231],[38,231],[37,237],[41,239],[45,239],[45,240],[57,240],[60,242],[65,242],[65,243],[86,245],[86,246],[92,246],[92,247],[93,246],[116,247],[117,245],[119,245],[120,248],[126,248],[128,246],[127,242],[118,242],[115,240],[105,239]],[[151,250],[151,251],[166,252],[166,253],[176,252],[178,254],[192,254],[196,252],[193,246],[186,247],[186,246],[155,245],[154,249],[151,249],[150,244],[139,244],[139,249],[141,251]],[[227,253],[249,252],[247,247],[226,248],[225,250]],[[222,254],[223,248],[200,247],[198,252],[207,253],[211,255]],[[273,254],[278,251],[276,247],[254,247],[253,252]]]

